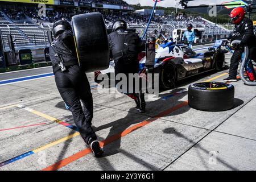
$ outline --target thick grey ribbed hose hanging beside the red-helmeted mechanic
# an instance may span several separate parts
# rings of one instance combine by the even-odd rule
[[[241,40],[234,40],[234,41],[232,42],[232,44],[241,44]],[[245,47],[244,47],[243,53],[244,53],[244,56],[243,56],[242,63],[241,63],[241,68],[240,68],[240,77],[241,77],[241,80],[242,80],[246,85],[256,86],[256,82],[248,81],[248,80],[245,78],[245,75],[243,74],[243,73],[244,73],[244,70],[245,70],[245,66],[247,65],[248,61],[250,61],[250,58],[249,58],[249,48],[248,48],[248,46],[245,46]],[[254,71],[254,70],[253,70],[253,71]]]

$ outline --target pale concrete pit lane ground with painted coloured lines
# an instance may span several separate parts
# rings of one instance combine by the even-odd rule
[[[0,77],[7,80],[51,70]],[[72,127],[72,115],[65,109],[53,77],[2,85],[0,170],[255,170],[255,87],[235,82],[236,104],[229,111],[198,111],[186,102],[184,89],[189,84],[222,81],[227,72],[204,73],[180,81],[176,89],[159,97],[147,95],[144,114],[137,113],[134,102],[122,94],[98,92],[100,86],[89,73],[93,127],[105,150],[98,159]]]

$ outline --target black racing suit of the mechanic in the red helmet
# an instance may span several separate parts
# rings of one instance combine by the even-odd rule
[[[241,60],[243,48],[245,45],[249,47],[250,59],[254,61],[256,60],[256,39],[253,32],[253,22],[249,18],[243,18],[242,22],[236,25],[235,31],[230,35],[229,40],[241,40],[240,46],[235,49],[230,60],[229,76],[236,78],[239,61]],[[250,81],[253,81],[255,80],[256,75],[251,60],[247,62],[245,69],[248,77],[250,78]]]

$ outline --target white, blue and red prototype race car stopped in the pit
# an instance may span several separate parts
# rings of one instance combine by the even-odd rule
[[[225,67],[225,54],[221,50],[222,40],[217,40],[214,46],[191,49],[185,44],[177,44],[170,40],[157,40],[154,73],[159,73],[159,86],[162,89],[175,87],[177,81],[216,69],[221,71]],[[141,56],[141,55],[140,55]],[[146,71],[146,57],[139,59],[139,73]],[[108,69],[95,72],[95,81],[99,74],[114,73],[114,61],[110,61]]]

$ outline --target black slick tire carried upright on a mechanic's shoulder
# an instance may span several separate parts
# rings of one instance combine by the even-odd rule
[[[100,13],[72,17],[73,34],[79,63],[85,72],[109,67],[109,42],[105,22]]]

